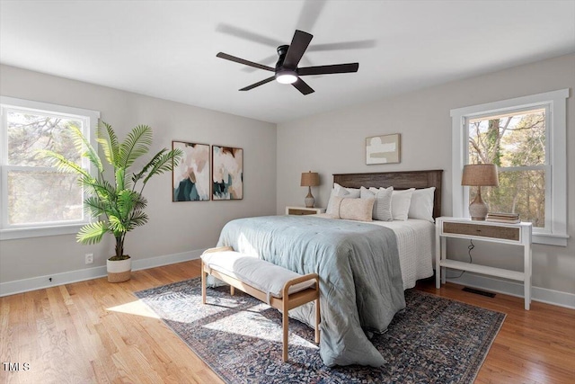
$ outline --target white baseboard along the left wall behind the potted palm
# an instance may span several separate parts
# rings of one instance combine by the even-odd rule
[[[202,252],[204,252],[204,249],[182,252],[180,254],[150,257],[143,260],[133,260],[132,271],[198,259]],[[77,281],[97,279],[104,277],[107,274],[106,266],[102,265],[76,271],[32,277],[30,279],[2,282],[0,283],[0,297],[27,292],[30,290],[41,290],[43,288],[55,287],[57,285],[69,284]]]

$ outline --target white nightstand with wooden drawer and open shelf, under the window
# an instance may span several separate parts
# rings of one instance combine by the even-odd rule
[[[446,282],[446,268],[469,271],[523,281],[525,308],[531,303],[531,223],[508,224],[493,221],[472,221],[470,219],[438,218],[435,220],[435,265],[436,288]],[[447,237],[466,238],[491,243],[510,244],[523,247],[523,272],[509,271],[474,263],[448,260],[446,253]],[[503,255],[502,255],[503,256]]]

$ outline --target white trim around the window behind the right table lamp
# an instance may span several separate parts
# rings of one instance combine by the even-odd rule
[[[500,102],[484,103],[451,110],[452,118],[452,189],[453,216],[468,218],[466,196],[467,187],[461,185],[467,143],[464,142],[464,121],[468,118],[530,108],[547,104],[550,113],[549,142],[551,167],[551,233],[537,232],[534,228],[533,242],[551,246],[567,246],[567,98],[569,88],[544,94],[532,94]],[[545,212],[547,213],[547,212]]]

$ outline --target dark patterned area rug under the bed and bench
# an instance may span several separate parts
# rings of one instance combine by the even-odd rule
[[[199,278],[136,293],[192,351],[228,383],[472,383],[505,315],[406,290],[407,308],[372,339],[382,367],[323,365],[314,330],[289,323],[289,361],[281,361],[281,315],[236,290]]]

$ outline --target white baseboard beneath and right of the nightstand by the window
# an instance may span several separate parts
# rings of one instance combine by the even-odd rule
[[[518,298],[524,297],[523,284],[515,281],[495,279],[492,277],[473,274],[471,272],[466,272],[463,276],[457,279],[447,279],[447,281],[455,282],[456,284],[462,284],[480,290],[489,290],[491,292],[516,296]],[[531,299],[533,301],[540,301],[542,303],[553,304],[559,307],[575,309],[575,294],[568,292],[531,287]]]

